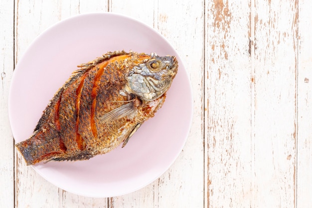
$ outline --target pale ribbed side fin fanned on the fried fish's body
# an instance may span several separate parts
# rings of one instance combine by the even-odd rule
[[[125,116],[129,116],[135,111],[136,107],[134,106],[134,102],[129,102],[116,108],[108,113],[105,113],[100,117],[100,121],[103,123],[115,121]]]

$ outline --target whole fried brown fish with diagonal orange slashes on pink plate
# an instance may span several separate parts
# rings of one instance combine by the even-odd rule
[[[27,165],[88,160],[129,138],[162,106],[177,73],[174,56],[108,52],[81,64],[17,149]]]

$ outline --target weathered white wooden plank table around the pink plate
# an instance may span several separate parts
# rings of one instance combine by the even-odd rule
[[[311,208],[311,10],[311,0],[1,0],[0,207]],[[26,167],[7,115],[14,66],[34,38],[95,11],[163,34],[184,60],[194,105],[171,168],[104,199],[65,192]]]

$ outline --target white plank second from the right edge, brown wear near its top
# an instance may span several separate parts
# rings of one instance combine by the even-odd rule
[[[295,207],[297,1],[255,0],[254,207]]]

